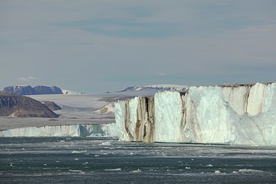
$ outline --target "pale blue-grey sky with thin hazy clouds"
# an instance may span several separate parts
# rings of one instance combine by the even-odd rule
[[[1,0],[0,89],[276,81],[275,9],[275,0]]]

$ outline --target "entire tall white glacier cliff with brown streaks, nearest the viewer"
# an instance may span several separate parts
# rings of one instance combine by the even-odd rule
[[[112,126],[124,141],[276,145],[275,102],[276,83],[190,87],[119,101]]]

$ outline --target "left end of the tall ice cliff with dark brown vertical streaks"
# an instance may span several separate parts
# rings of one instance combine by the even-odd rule
[[[152,142],[154,132],[154,98],[135,97],[115,103],[116,124],[108,125],[108,134],[123,141]]]

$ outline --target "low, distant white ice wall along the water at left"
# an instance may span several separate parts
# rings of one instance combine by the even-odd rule
[[[0,137],[12,136],[93,136],[105,135],[102,125],[56,125],[44,127],[21,127],[0,132]]]

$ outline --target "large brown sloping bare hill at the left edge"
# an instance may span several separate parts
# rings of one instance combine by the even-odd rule
[[[0,116],[57,118],[46,105],[27,96],[0,93]]]

